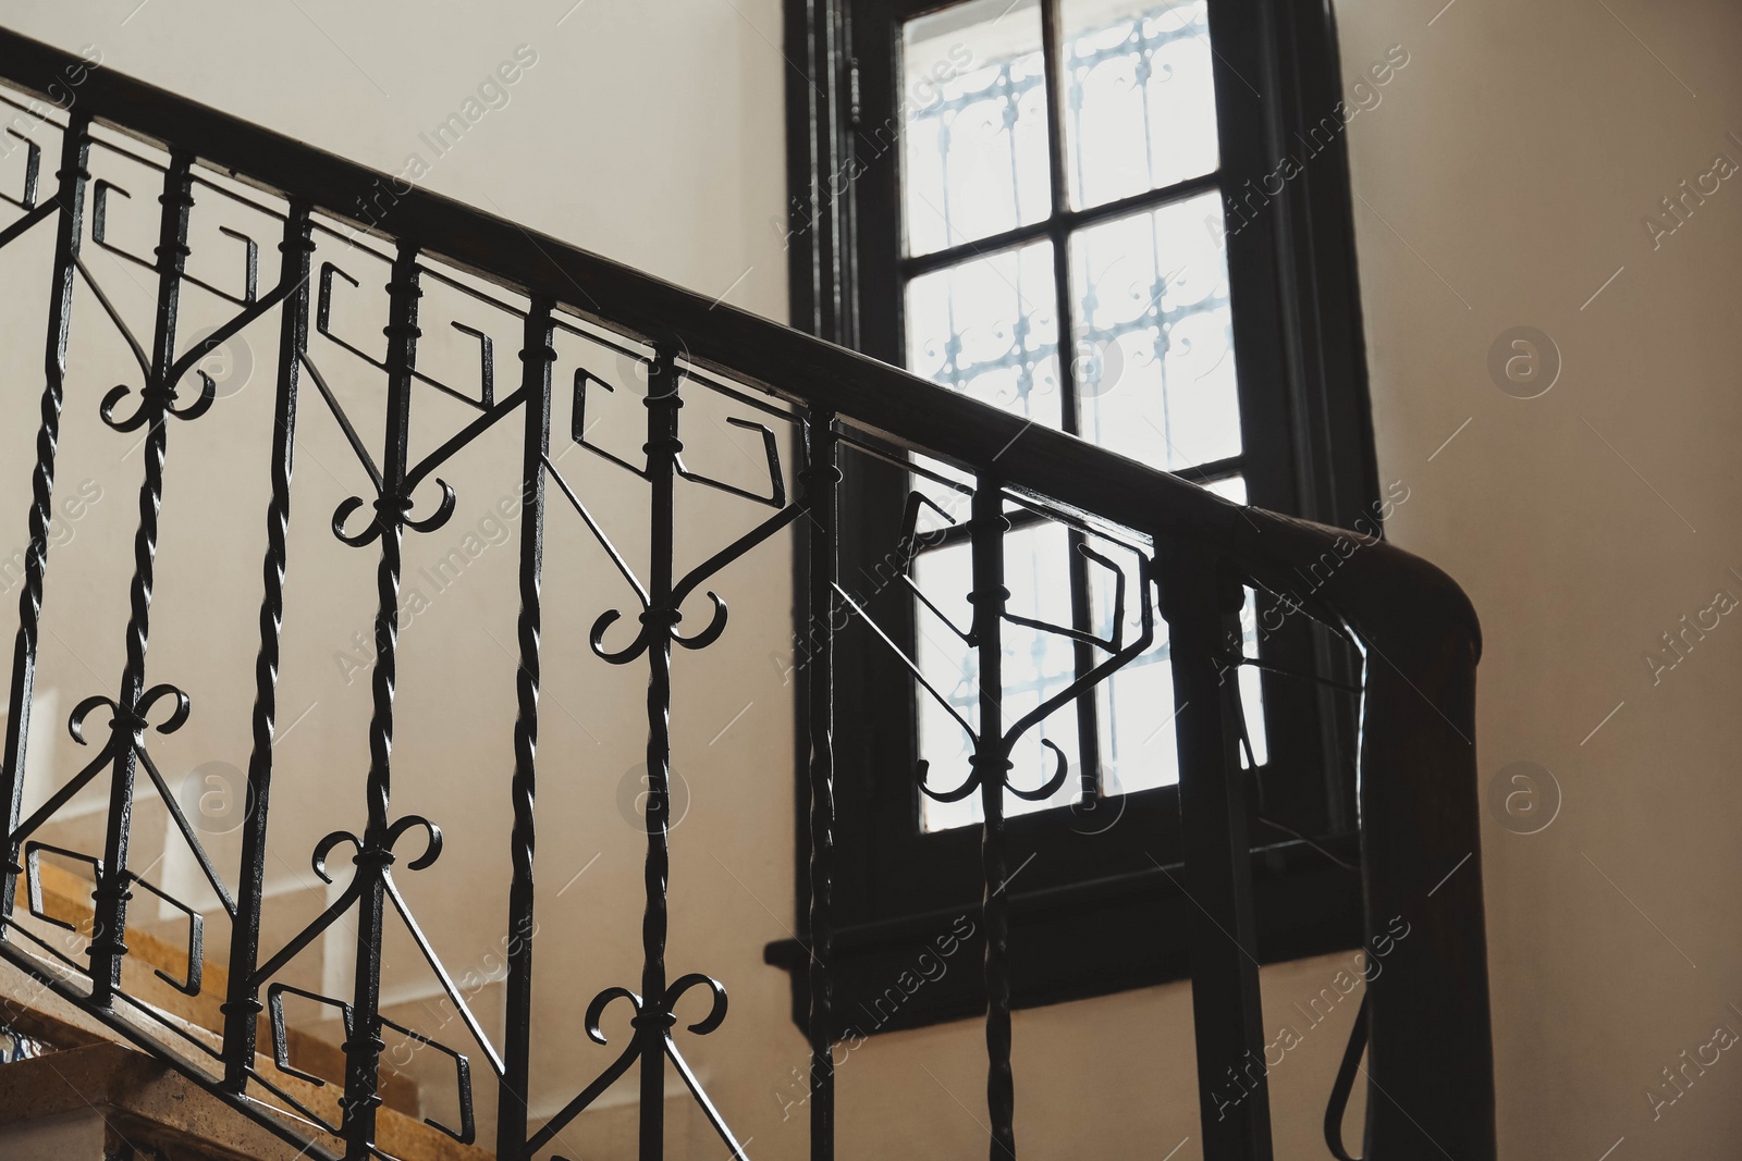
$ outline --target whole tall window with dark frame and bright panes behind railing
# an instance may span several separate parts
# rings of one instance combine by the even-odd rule
[[[787,17],[787,45],[801,47],[789,56],[808,71],[789,103],[800,325],[1233,500],[1343,526],[1367,513],[1378,487],[1343,143],[1315,146],[1280,188],[1286,150],[1272,144],[1320,125],[1340,99],[1322,10],[789,0]],[[845,465],[848,578],[869,574],[897,540],[909,491],[948,503],[944,484],[862,460]],[[1019,520],[1005,560],[1010,611],[1106,635],[1111,573],[1096,560],[1115,552]],[[934,606],[899,587],[874,604],[948,707],[915,698],[873,642],[838,639],[838,987],[848,996],[855,963],[874,985],[880,956],[923,938],[941,903],[967,907],[979,893],[977,799],[935,802],[915,787],[918,759],[934,771],[967,761],[949,710],[974,696],[972,653],[928,628],[965,621],[967,573],[965,541],[939,526],[913,560]],[[1272,959],[1359,940],[1354,700],[1282,677],[1350,682],[1359,668],[1306,618],[1275,613],[1247,595],[1244,653],[1266,670],[1239,670],[1252,834],[1266,848],[1259,940]],[[1014,712],[1096,661],[1040,630],[1007,634],[1005,658]],[[1007,795],[1024,867],[1010,888],[1019,1004],[1183,975],[1162,921],[1181,905],[1162,870],[1179,846],[1165,661],[1158,627],[1146,654],[1012,755],[1023,785],[1043,782],[1052,762],[1040,738],[1077,771],[1050,799]],[[855,933],[871,945],[852,950]],[[972,1011],[972,983],[915,1004],[901,1023]]]

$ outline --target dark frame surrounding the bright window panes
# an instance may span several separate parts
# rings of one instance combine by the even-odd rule
[[[820,338],[901,364],[902,251],[899,146],[876,132],[899,108],[901,21],[946,7],[935,0],[787,0],[787,157],[793,200],[787,245],[793,322]],[[1049,87],[1056,85],[1059,2],[1042,0]],[[1364,339],[1355,284],[1352,197],[1345,134],[1319,150],[1279,193],[1263,185],[1284,155],[1341,99],[1329,7],[1298,0],[1211,0],[1223,204],[1244,198],[1247,223],[1228,233],[1235,359],[1240,366],[1242,456],[1249,501],[1343,527],[1376,520],[1378,472],[1367,413]],[[1256,92],[1254,92],[1256,91]],[[1268,94],[1268,96],[1258,96]],[[1049,97],[1056,110],[1057,99]],[[1054,155],[1059,153],[1052,118]],[[1305,138],[1303,138],[1305,139]],[[1057,172],[1057,164],[1054,164]],[[1202,181],[1186,183],[1202,188]],[[1214,185],[1211,186],[1214,188]],[[1056,185],[1056,198],[1063,190]],[[1132,212],[1138,202],[1118,202]],[[1256,207],[1258,212],[1251,212]],[[1052,237],[1063,247],[1085,218],[1056,202]],[[1061,320],[1063,322],[1063,320]],[[1068,332],[1061,341],[1070,343]],[[1193,479],[1188,475],[1188,479]],[[850,465],[843,486],[843,576],[895,543],[902,473]],[[1362,527],[1367,527],[1366,524]],[[800,554],[803,560],[803,554]],[[1308,583],[1308,581],[1303,581]],[[803,585],[798,588],[803,592]],[[807,616],[808,611],[800,611]],[[911,639],[911,602],[890,594],[878,609],[897,639]],[[1266,607],[1259,607],[1261,618]],[[1359,679],[1355,660],[1306,618],[1261,644],[1266,663]],[[913,783],[915,722],[909,684],[864,634],[838,637],[838,956],[836,1008],[885,994],[904,957],[972,919],[981,884],[977,829],[918,834]],[[803,696],[803,682],[794,682]],[[899,689],[901,696],[892,696]],[[1326,686],[1263,675],[1272,762],[1263,769],[1270,816],[1315,841],[1286,839],[1251,820],[1259,957],[1266,963],[1361,942],[1354,832],[1352,698]],[[800,754],[805,754],[800,740]],[[808,884],[807,783],[798,780],[798,888]],[[1247,775],[1252,776],[1252,775]],[[1258,795],[1249,794],[1249,799]],[[1280,799],[1280,801],[1279,801]],[[1010,820],[1012,865],[1031,853],[1012,891],[1014,1003],[1056,1003],[1185,978],[1185,907],[1178,790],[1162,787],[1103,799],[1118,825],[1050,809]],[[1327,858],[1334,855],[1334,858]],[[803,910],[803,907],[801,907]],[[800,933],[803,938],[803,933]],[[967,940],[976,947],[976,940]],[[974,952],[977,954],[977,952]],[[803,1008],[800,940],[768,949],[794,970],[794,1017]],[[843,1030],[913,1027],[967,1017],[982,1006],[976,971],[920,989],[899,1013],[861,1008]],[[880,1018],[883,1017],[883,1018]]]

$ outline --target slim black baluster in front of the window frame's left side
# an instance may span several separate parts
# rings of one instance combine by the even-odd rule
[[[827,628],[840,571],[834,414],[805,421],[805,503],[810,510],[810,1158],[834,1159],[834,641]]]

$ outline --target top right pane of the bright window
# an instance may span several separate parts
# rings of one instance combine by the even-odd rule
[[[1073,205],[1101,205],[1216,169],[1204,0],[1064,0],[1064,54]]]

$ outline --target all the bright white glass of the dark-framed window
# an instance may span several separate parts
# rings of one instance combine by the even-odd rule
[[[967,0],[902,28],[908,367],[1158,468],[1216,463],[1218,487],[1244,501],[1221,198],[1211,188],[1219,153],[1205,3],[1063,0],[1059,19],[1063,59],[1050,70],[1059,84],[1059,157],[1047,122],[1038,0]],[[1195,185],[1174,188],[1181,183]],[[1073,212],[1052,204],[1054,188],[1070,191]],[[989,247],[972,245],[986,238]],[[960,494],[915,486],[965,519]],[[1111,639],[1115,581],[1097,564],[1075,567],[1080,547],[1117,560],[1134,583],[1131,550],[1059,524],[1030,524],[1005,538],[1007,611]],[[937,606],[915,606],[915,660],[948,701],[920,693],[920,757],[930,764],[928,783],[949,789],[970,773],[962,721],[972,728],[979,717],[974,651],[951,628],[970,621],[969,545],[922,552],[915,581]],[[1249,627],[1251,609],[1249,595]],[[1125,621],[1122,639],[1131,641],[1139,632],[1136,594],[1127,594]],[[1165,637],[1158,623],[1155,644],[1101,682],[1087,705],[1061,705],[1024,735],[1012,754],[1014,785],[1043,785],[1056,769],[1042,740],[1059,747],[1071,775],[1045,802],[1007,795],[1005,813],[1078,802],[1085,785],[1117,795],[1178,782]],[[1256,651],[1252,632],[1246,646]],[[1090,656],[1096,663],[1106,651]],[[1068,688],[1082,667],[1070,637],[1007,623],[1005,728]],[[1263,764],[1258,674],[1242,667],[1230,681],[1239,682]],[[1085,754],[1090,771],[1082,769]],[[977,794],[960,802],[922,797],[925,830],[979,818]]]

